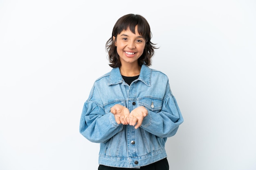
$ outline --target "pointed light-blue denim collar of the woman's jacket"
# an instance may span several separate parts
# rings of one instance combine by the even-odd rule
[[[150,86],[151,85],[151,69],[147,65],[142,65],[140,74],[139,74],[139,81],[142,81],[146,85]],[[109,76],[109,81],[108,85],[115,85],[118,83],[123,82],[123,77],[121,76],[120,69],[119,68],[113,68],[110,71],[110,76]]]

